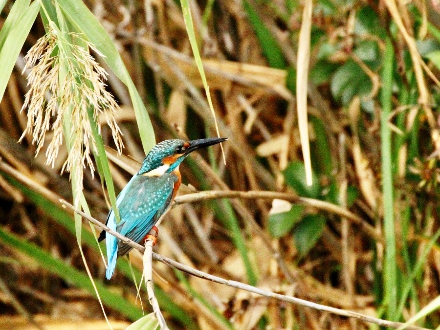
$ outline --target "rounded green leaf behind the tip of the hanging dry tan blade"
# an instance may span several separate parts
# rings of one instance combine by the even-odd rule
[[[292,187],[299,196],[319,198],[321,192],[319,178],[312,172],[313,183],[311,186],[308,186],[306,182],[306,169],[303,162],[292,161],[286,170],[283,171],[283,174],[286,183]]]

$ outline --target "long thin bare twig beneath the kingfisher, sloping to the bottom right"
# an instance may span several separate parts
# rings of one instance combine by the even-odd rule
[[[130,239],[126,238],[125,236],[122,236],[118,232],[116,232],[116,231],[110,229],[109,227],[107,227],[105,224],[99,222],[96,219],[93,219],[92,217],[89,217],[84,212],[79,211],[79,210],[75,210],[73,205],[68,203],[66,200],[60,199],[60,202],[63,204],[64,207],[68,207],[68,208],[72,209],[74,212],[76,212],[77,214],[79,214],[80,216],[85,218],[86,220],[94,223],[99,228],[102,228],[103,230],[105,230],[106,232],[110,233],[111,235],[113,235],[117,239],[121,240],[122,242],[124,242],[124,243],[130,245],[131,247],[139,250],[141,253],[144,253],[145,247],[143,247],[142,245],[140,245],[140,244],[138,244],[136,242],[131,241]],[[185,273],[188,273],[190,275],[196,276],[198,278],[209,280],[209,281],[216,282],[216,283],[219,283],[219,284],[224,284],[226,286],[232,286],[232,287],[235,287],[235,288],[238,288],[238,289],[246,290],[246,291],[249,291],[249,292],[252,292],[252,293],[256,293],[256,294],[264,296],[264,297],[274,298],[274,299],[277,299],[277,300],[282,300],[282,301],[286,301],[286,302],[289,302],[289,303],[293,303],[293,304],[297,304],[297,305],[300,305],[300,306],[304,306],[304,307],[308,307],[308,308],[313,308],[313,309],[317,309],[317,310],[321,310],[321,311],[327,311],[329,313],[336,314],[336,315],[341,315],[341,316],[346,316],[346,317],[353,317],[353,318],[356,318],[356,319],[361,320],[363,322],[374,323],[374,324],[377,324],[377,325],[382,326],[382,327],[390,327],[390,328],[397,329],[397,328],[399,328],[400,326],[403,325],[403,323],[401,323],[401,322],[392,322],[392,321],[382,320],[382,319],[379,319],[379,318],[376,318],[376,317],[364,315],[364,314],[357,313],[357,312],[354,312],[354,311],[351,311],[351,310],[345,310],[345,309],[333,308],[333,307],[329,307],[329,306],[325,306],[325,305],[320,305],[320,304],[309,302],[309,301],[304,300],[304,299],[290,297],[290,296],[286,296],[286,295],[282,295],[282,294],[278,294],[278,293],[262,290],[262,289],[260,289],[258,287],[250,286],[250,285],[247,285],[247,284],[244,284],[244,283],[241,283],[241,282],[225,280],[225,279],[222,279],[220,277],[213,276],[213,275],[210,275],[208,273],[202,272],[200,270],[188,267],[188,266],[186,266],[184,264],[177,263],[176,261],[174,261],[172,259],[166,258],[166,257],[161,256],[160,254],[157,254],[157,253],[154,253],[154,252],[153,252],[153,259],[157,260],[157,261],[159,261],[159,262],[161,262],[163,264],[168,264],[169,266],[175,267],[176,269],[184,271]],[[426,328],[421,328],[421,327],[417,327],[417,326],[409,326],[406,329],[408,329],[408,330],[428,330]]]

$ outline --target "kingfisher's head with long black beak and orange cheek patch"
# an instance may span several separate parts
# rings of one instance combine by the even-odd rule
[[[139,175],[161,176],[174,171],[193,151],[226,141],[224,137],[212,137],[192,141],[165,140],[156,144],[145,157]]]

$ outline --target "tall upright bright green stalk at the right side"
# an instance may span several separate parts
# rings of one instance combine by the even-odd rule
[[[387,305],[387,317],[394,320],[396,315],[397,265],[396,265],[396,231],[394,225],[394,188],[393,161],[391,149],[391,130],[388,125],[392,110],[391,96],[393,87],[394,48],[387,38],[385,57],[382,69],[382,115],[380,122],[382,154],[382,194],[384,207],[385,265],[383,271],[384,300]]]

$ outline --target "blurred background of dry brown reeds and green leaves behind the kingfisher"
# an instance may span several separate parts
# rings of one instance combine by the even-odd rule
[[[188,186],[180,194],[276,191],[297,202],[214,199],[176,206],[160,226],[156,251],[223,278],[324,305],[402,322],[417,315],[440,295],[439,1],[313,2],[311,186],[295,110],[304,4],[182,2],[193,17],[220,135],[229,141],[226,165],[220,148],[189,157],[181,166]],[[141,306],[133,284],[133,275],[137,281],[141,276],[141,256],[131,253],[132,266],[119,260],[115,276],[105,281],[96,234],[58,200],[76,200],[104,221],[154,141],[216,135],[181,3],[3,0],[0,7],[0,324],[28,329],[81,322],[86,329],[104,329],[99,292],[113,329],[124,329],[142,317],[142,308],[151,312],[146,293],[141,289]],[[26,128],[24,56],[49,21],[60,33],[77,33],[96,47],[91,55],[109,73],[107,88],[120,106],[115,118],[123,154],[130,157],[112,151],[117,145],[105,114],[89,112],[96,173],[84,171],[82,192],[73,172],[72,183],[68,174],[60,175],[72,134],[53,168],[45,164],[53,132],[46,133],[36,157],[30,135],[17,144]],[[64,125],[67,130],[70,122]],[[171,329],[369,327],[163,264],[154,270],[155,294]],[[418,325],[438,327],[439,305],[423,310]],[[132,329],[150,321],[147,316]]]

